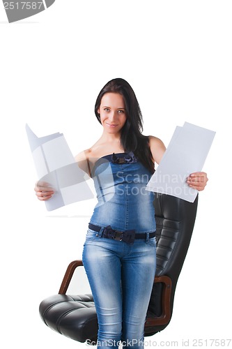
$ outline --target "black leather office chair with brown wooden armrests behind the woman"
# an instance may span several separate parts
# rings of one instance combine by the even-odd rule
[[[198,197],[193,203],[170,195],[155,194],[157,222],[157,269],[144,327],[144,335],[162,331],[171,320],[178,276],[192,237]],[[82,260],[70,263],[58,295],[40,303],[40,316],[54,331],[75,341],[94,343],[98,319],[92,295],[66,295],[75,269]],[[135,304],[136,306],[136,304]]]

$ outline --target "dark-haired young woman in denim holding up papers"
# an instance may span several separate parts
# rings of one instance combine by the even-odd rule
[[[142,135],[142,116],[132,87],[123,79],[105,85],[95,103],[102,136],[76,160],[93,178],[98,204],[88,225],[83,262],[98,314],[98,346],[143,348],[144,322],[155,277],[154,193],[146,184],[165,147]],[[202,191],[204,172],[187,184]],[[52,188],[36,186],[39,200]]]

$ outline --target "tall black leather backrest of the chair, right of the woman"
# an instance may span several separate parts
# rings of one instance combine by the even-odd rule
[[[171,279],[171,314],[176,283],[192,237],[197,204],[198,196],[192,203],[171,195],[155,194],[154,205],[157,223],[157,269],[155,275],[166,275]],[[162,313],[163,287],[162,283],[154,283],[148,306],[149,317],[157,317]],[[162,331],[162,329],[167,327],[168,323],[145,328],[145,335],[150,336]]]

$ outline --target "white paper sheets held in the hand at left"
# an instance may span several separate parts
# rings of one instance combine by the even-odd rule
[[[27,124],[26,133],[39,181],[55,190],[52,198],[45,201],[47,211],[94,198],[86,183],[89,177],[75,162],[62,133],[38,138]]]

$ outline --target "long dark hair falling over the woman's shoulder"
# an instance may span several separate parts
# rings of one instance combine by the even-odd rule
[[[142,135],[143,117],[139,107],[139,103],[134,94],[134,90],[127,81],[121,78],[110,80],[100,91],[95,103],[95,115],[100,121],[98,109],[102,100],[102,96],[107,93],[121,94],[125,103],[125,112],[127,120],[121,130],[121,145],[125,152],[133,151],[139,161],[143,163],[150,172],[154,172],[154,163],[149,147],[148,136]]]

